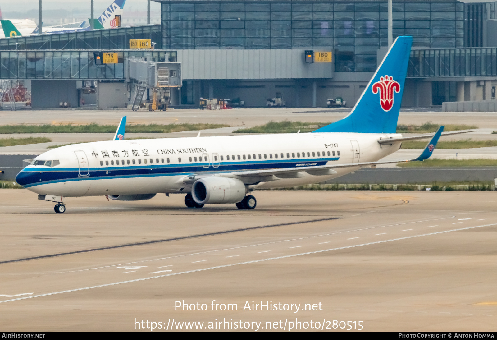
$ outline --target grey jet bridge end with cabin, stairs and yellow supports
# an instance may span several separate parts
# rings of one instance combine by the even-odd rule
[[[125,60],[124,73],[133,93],[133,111],[140,108],[147,89],[153,91],[149,110],[165,111],[170,104],[171,88],[183,85],[180,62],[158,62],[151,56],[128,57]]]

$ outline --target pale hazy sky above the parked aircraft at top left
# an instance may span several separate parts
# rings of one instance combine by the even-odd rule
[[[94,13],[97,15],[107,8],[113,0],[94,0]],[[2,12],[19,11],[25,12],[30,9],[38,10],[38,0],[0,0]],[[90,0],[42,0],[42,9],[87,9],[88,17],[90,13]],[[160,11],[161,4],[155,1],[150,2],[151,11]],[[147,10],[147,0],[126,0],[124,11]]]

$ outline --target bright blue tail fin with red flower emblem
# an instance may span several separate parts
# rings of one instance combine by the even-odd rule
[[[313,132],[395,133],[413,37],[398,37],[348,116]]]

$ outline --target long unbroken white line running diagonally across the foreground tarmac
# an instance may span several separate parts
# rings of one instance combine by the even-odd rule
[[[207,267],[207,268],[200,268],[200,269],[193,269],[193,270],[187,270],[187,271],[180,271],[180,272],[177,272],[177,273],[170,273],[170,274],[164,274],[164,275],[142,277],[142,278],[138,278],[138,279],[134,279],[134,280],[105,283],[105,284],[99,284],[99,285],[89,286],[89,287],[83,287],[83,288],[75,288],[75,289],[61,290],[61,291],[57,291],[57,292],[51,292],[51,293],[45,293],[45,294],[39,294],[39,295],[24,296],[24,297],[19,297],[19,298],[10,299],[10,300],[3,300],[3,301],[0,301],[0,303],[12,302],[12,301],[18,301],[18,300],[24,300],[24,299],[31,299],[31,298],[42,297],[42,296],[57,295],[57,294],[63,294],[63,293],[71,293],[71,292],[77,292],[77,291],[82,291],[82,290],[87,290],[87,289],[93,289],[93,288],[109,287],[109,286],[115,286],[115,285],[118,285],[118,284],[138,282],[138,281],[145,281],[145,280],[151,280],[151,279],[160,278],[160,277],[166,277],[166,276],[172,276],[172,275],[181,275],[181,274],[187,274],[187,273],[194,273],[194,272],[205,271],[205,270],[226,268],[226,267],[232,267],[232,266],[242,265],[242,264],[257,263],[257,262],[264,262],[264,261],[269,261],[269,260],[276,260],[276,259],[282,259],[282,258],[288,258],[288,257],[295,257],[295,256],[301,256],[301,255],[319,254],[319,253],[331,252],[331,251],[335,251],[335,250],[342,250],[342,249],[350,249],[350,248],[356,248],[356,247],[377,245],[377,244],[380,244],[380,243],[387,243],[387,242],[393,242],[393,241],[408,240],[408,239],[414,239],[416,237],[424,237],[424,236],[431,236],[431,235],[437,235],[437,234],[445,234],[445,233],[451,233],[451,232],[456,232],[456,231],[461,231],[461,230],[469,230],[469,229],[490,227],[490,226],[495,226],[495,225],[497,225],[497,223],[484,224],[484,225],[481,225],[481,226],[474,226],[474,227],[451,229],[451,230],[445,230],[445,231],[439,231],[439,232],[435,232],[435,233],[428,233],[428,234],[421,234],[421,235],[412,235],[412,236],[406,236],[406,237],[401,237],[401,238],[397,238],[397,239],[383,240],[383,241],[376,241],[376,242],[369,242],[369,243],[363,243],[363,244],[359,244],[359,245],[352,245],[352,246],[331,248],[331,249],[319,250],[319,251],[314,251],[314,252],[292,254],[292,255],[283,255],[283,256],[269,257],[269,258],[261,258],[261,259],[257,259],[257,260],[246,261],[246,262],[239,262],[239,263],[232,263],[232,264],[223,264],[223,265],[218,265],[218,266],[213,266],[213,267]]]

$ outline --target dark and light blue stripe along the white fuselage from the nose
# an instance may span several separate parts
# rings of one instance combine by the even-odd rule
[[[89,176],[80,176],[78,168],[63,168],[63,169],[36,169],[26,168],[19,174],[17,181],[24,187],[32,187],[41,184],[76,181],[76,180],[93,180],[93,179],[108,179],[108,178],[137,178],[137,177],[157,177],[157,176],[172,176],[172,175],[187,175],[188,173],[220,173],[233,172],[241,170],[266,170],[296,167],[297,164],[312,163],[316,166],[326,165],[329,161],[338,161],[336,158],[320,158],[320,159],[303,159],[298,160],[271,160],[257,162],[224,162],[219,167],[213,167],[212,163],[208,168],[204,168],[202,163],[190,163],[184,166],[180,164],[165,164],[165,165],[142,165],[133,167],[104,167],[90,168]],[[23,173],[24,172],[24,173]],[[86,173],[87,170],[82,170]],[[108,172],[108,173],[107,173]],[[39,180],[41,179],[41,181]]]

